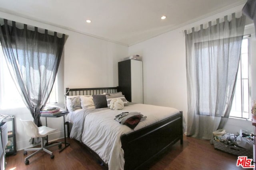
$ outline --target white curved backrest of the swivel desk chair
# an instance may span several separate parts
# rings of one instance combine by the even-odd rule
[[[33,137],[33,138],[39,137],[38,127],[33,121],[22,120],[22,119],[20,119],[20,121],[21,121],[22,125],[24,126],[25,132],[28,136]]]

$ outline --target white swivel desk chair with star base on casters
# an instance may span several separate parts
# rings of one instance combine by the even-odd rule
[[[29,120],[22,120],[20,119],[22,125],[25,127],[25,132],[28,136],[32,137],[32,138],[36,138],[36,137],[40,137],[41,138],[41,148],[29,148],[29,149],[24,149],[24,155],[28,154],[27,151],[33,151],[36,150],[36,152],[30,154],[29,156],[27,156],[25,158],[25,164],[28,165],[29,164],[29,158],[31,158],[32,156],[34,156],[35,154],[37,154],[38,152],[40,152],[41,150],[44,150],[44,152],[47,152],[48,154],[50,154],[51,159],[54,158],[54,154],[50,151],[47,150],[46,148],[48,147],[53,147],[58,145],[59,148],[62,147],[62,143],[56,143],[53,145],[48,145],[46,147],[44,147],[44,140],[43,138],[46,137],[47,135],[49,135],[50,133],[56,131],[57,129],[52,129],[50,127],[46,127],[46,126],[41,126],[41,127],[37,127],[37,125],[33,122],[33,121],[29,121]]]

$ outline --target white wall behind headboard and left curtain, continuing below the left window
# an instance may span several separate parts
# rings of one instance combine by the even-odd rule
[[[118,86],[118,61],[128,56],[128,47],[4,12],[0,12],[0,18],[68,35],[61,61],[62,65],[58,70],[58,79],[60,79],[58,85],[59,90],[61,89],[59,102],[61,107],[64,107],[64,88],[66,87]],[[28,142],[30,137],[24,134],[24,129],[19,121],[19,119],[33,120],[28,109],[24,107],[0,110],[0,114],[16,116],[17,149],[22,150],[26,147],[31,147]],[[45,118],[41,118],[41,120],[44,125]],[[56,133],[49,136],[49,140],[63,138],[63,117],[48,118],[47,121],[49,127],[58,129]],[[8,129],[10,130],[10,128]]]

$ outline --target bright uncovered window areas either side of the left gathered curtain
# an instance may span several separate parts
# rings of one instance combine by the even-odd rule
[[[57,77],[56,77],[57,80]],[[58,102],[58,83],[54,83],[48,103]],[[12,80],[0,44],[0,109],[26,107]]]

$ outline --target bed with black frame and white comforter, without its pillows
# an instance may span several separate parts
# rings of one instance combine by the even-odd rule
[[[88,97],[116,93],[118,93],[118,87],[66,88],[67,100],[74,96]],[[82,100],[80,102],[82,103]],[[147,118],[145,121],[140,121],[134,129],[114,121],[114,116],[118,113],[135,110],[146,115]],[[182,111],[171,107],[128,102],[122,110],[76,109],[70,111],[68,115],[68,120],[72,123],[70,137],[82,142],[110,170],[143,169],[176,142],[180,141],[180,144],[183,144]],[[161,117],[158,118],[158,115]],[[110,123],[110,125],[103,123]],[[106,127],[110,129],[106,130]],[[119,127],[122,128],[119,129]],[[110,132],[107,134],[106,131]],[[109,138],[108,140],[112,143],[106,141],[106,138]]]

